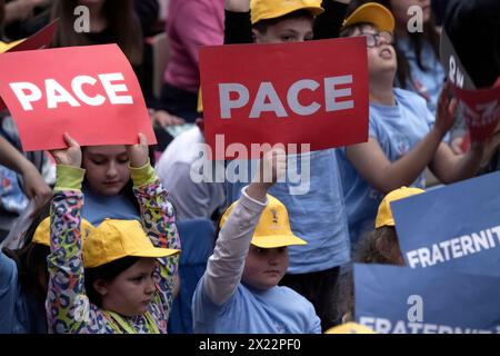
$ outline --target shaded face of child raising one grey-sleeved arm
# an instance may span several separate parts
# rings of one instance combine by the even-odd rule
[[[253,288],[266,290],[278,285],[287,268],[287,247],[260,248],[250,245],[242,280]]]

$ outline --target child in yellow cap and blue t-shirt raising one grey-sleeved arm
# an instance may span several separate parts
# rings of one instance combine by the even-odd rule
[[[272,182],[254,179],[222,216],[207,271],[194,291],[194,333],[320,333],[312,305],[288,287],[278,287],[288,267],[287,246],[306,245],[290,230],[288,212],[268,188],[286,171],[283,150],[261,162]],[[262,175],[260,175],[262,177]]]

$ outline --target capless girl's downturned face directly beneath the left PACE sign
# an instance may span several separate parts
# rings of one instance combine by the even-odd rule
[[[90,189],[101,196],[116,196],[130,179],[129,156],[124,146],[89,146],[82,166]]]

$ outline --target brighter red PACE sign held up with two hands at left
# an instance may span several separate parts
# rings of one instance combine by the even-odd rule
[[[63,132],[82,146],[156,144],[139,82],[117,44],[0,56],[0,96],[24,151],[63,148]]]

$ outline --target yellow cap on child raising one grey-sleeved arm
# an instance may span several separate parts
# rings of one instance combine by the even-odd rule
[[[293,235],[284,205],[268,195],[269,205],[263,209],[259,224],[256,227],[251,244],[260,248],[276,248],[292,245],[307,245],[308,243]],[[222,215],[219,227],[228,220],[238,201],[234,201]]]

